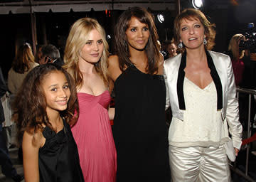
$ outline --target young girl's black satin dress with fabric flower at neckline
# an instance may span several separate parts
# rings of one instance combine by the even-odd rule
[[[46,143],[39,149],[40,182],[84,181],[78,147],[68,123],[63,120],[63,125],[63,129],[57,134],[49,127],[43,130]]]

